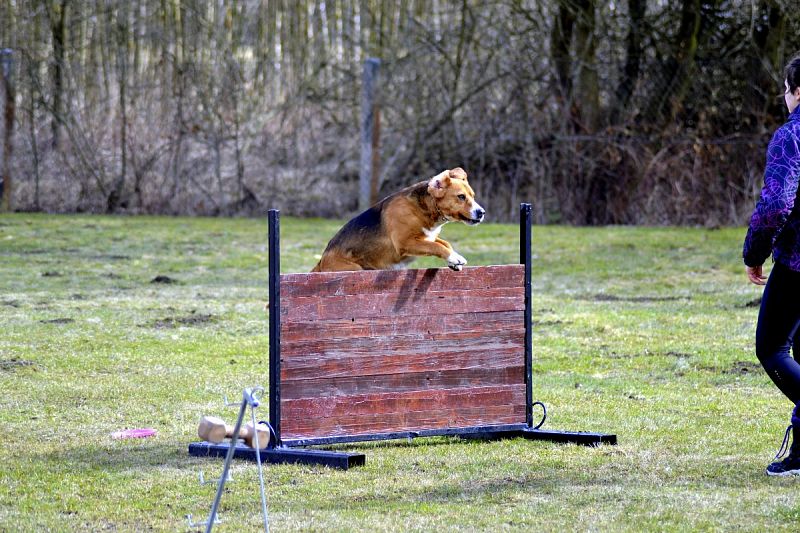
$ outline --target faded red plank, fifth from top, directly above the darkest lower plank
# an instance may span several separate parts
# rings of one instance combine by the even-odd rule
[[[524,352],[518,346],[489,348],[474,352],[445,350],[432,354],[415,353],[395,355],[390,353],[362,357],[290,359],[281,362],[281,383],[292,379],[373,376],[457,370],[460,368],[505,368],[518,365]]]

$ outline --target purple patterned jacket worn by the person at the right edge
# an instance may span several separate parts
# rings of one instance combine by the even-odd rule
[[[800,106],[778,128],[767,148],[761,199],[744,239],[744,263],[758,266],[774,260],[800,271],[800,208],[792,209],[800,179]]]

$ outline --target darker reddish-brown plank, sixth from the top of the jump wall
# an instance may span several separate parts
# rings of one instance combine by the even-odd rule
[[[459,368],[375,376],[342,376],[281,381],[281,399],[320,398],[415,390],[493,387],[525,382],[525,367]]]

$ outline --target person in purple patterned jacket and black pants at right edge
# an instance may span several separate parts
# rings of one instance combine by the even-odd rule
[[[800,475],[800,55],[786,66],[784,83],[789,120],[767,148],[764,187],[743,250],[747,277],[756,285],[766,285],[756,326],[756,356],[795,404],[775,459],[785,455],[791,433],[789,454],[767,467],[770,476]],[[767,280],[763,264],[770,254],[775,264]]]

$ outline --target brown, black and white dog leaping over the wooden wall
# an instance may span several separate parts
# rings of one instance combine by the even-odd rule
[[[448,222],[480,224],[486,211],[461,168],[387,196],[350,220],[328,243],[312,272],[404,268],[418,256],[436,256],[453,270],[467,264],[439,237]]]

